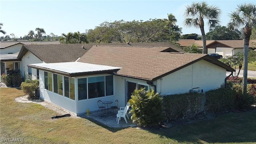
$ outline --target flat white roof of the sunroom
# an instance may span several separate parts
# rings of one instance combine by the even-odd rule
[[[28,66],[70,77],[87,76],[92,74],[113,74],[113,72],[117,72],[121,69],[113,66],[88,64],[83,62],[40,63],[28,64]]]

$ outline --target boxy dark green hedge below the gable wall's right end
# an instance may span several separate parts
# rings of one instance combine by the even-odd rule
[[[206,94],[205,108],[208,111],[218,112],[235,107],[236,91],[228,88],[210,90]]]

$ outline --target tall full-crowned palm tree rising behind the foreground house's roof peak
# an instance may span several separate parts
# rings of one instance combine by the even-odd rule
[[[204,32],[204,19],[207,19],[209,29],[220,25],[220,9],[217,6],[209,6],[206,2],[193,2],[186,6],[183,24],[187,27],[200,28],[203,39],[203,54],[206,54],[206,36]]]

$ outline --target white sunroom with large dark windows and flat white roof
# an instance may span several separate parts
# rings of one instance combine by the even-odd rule
[[[40,98],[74,114],[98,110],[98,100],[115,100],[113,74],[121,68],[82,62],[28,66],[39,70]]]

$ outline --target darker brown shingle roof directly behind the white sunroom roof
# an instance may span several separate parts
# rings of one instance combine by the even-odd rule
[[[84,50],[82,48],[86,48]],[[46,63],[74,62],[82,57],[92,47],[92,44],[31,44],[23,45],[18,58],[22,58],[28,51]]]

